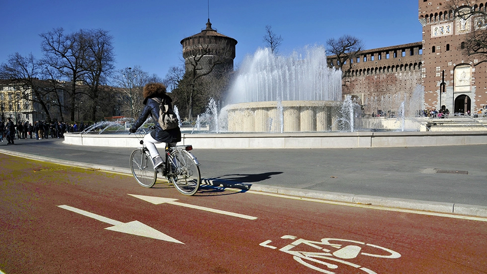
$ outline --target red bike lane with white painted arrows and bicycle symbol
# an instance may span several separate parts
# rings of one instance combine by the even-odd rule
[[[487,273],[483,219],[215,187],[188,197],[125,175],[0,161],[5,274]]]

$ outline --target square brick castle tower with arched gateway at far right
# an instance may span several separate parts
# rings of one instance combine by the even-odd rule
[[[481,16],[454,18],[450,2],[419,0],[424,106],[426,109],[445,106],[450,112],[476,113],[487,103],[487,66],[477,59],[479,57],[467,56],[464,48],[467,36],[486,27],[486,19]],[[472,7],[486,8],[480,1]]]

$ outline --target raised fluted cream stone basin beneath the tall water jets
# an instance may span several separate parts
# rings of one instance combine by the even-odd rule
[[[337,131],[340,101],[261,101],[226,106],[229,132]]]

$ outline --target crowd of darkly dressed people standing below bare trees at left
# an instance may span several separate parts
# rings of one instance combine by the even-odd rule
[[[11,118],[7,118],[5,122],[0,121],[0,142],[3,142],[3,139],[7,140],[7,144],[14,144],[15,139],[59,139],[64,138],[66,132],[83,131],[87,126],[83,122],[66,124],[64,122],[35,121],[32,124],[28,121],[18,121],[15,124]]]

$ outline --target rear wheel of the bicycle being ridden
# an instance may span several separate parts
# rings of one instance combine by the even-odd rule
[[[185,150],[172,152],[168,177],[176,189],[184,195],[194,195],[200,187],[200,169]]]

